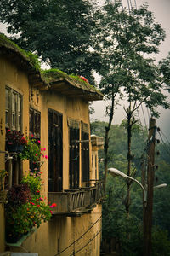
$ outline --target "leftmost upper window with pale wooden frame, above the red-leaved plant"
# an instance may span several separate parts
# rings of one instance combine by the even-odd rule
[[[5,126],[16,131],[21,131],[22,126],[22,96],[7,86],[5,88]]]

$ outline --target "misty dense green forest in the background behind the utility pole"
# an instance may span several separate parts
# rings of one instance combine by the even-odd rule
[[[98,136],[105,134],[107,123],[94,121],[91,132]],[[141,182],[142,155],[146,150],[148,130],[139,124],[133,126],[133,172],[132,176]],[[160,142],[160,143],[159,143]],[[170,183],[170,144],[167,137],[156,132],[156,176],[155,186]],[[104,152],[99,151],[99,176],[104,176]],[[127,172],[127,127],[111,125],[108,167],[116,167]],[[152,255],[167,255],[170,252],[170,187],[154,190]],[[123,256],[142,255],[143,252],[143,205],[142,190],[137,183],[132,183],[130,218],[125,211],[126,181],[122,177],[108,175],[106,182],[106,200],[103,204],[103,241],[116,242],[116,250]],[[130,234],[127,237],[127,233]]]

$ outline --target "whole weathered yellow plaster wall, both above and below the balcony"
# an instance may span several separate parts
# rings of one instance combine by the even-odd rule
[[[26,73],[20,72],[14,64],[9,61],[0,60],[0,120],[3,119],[3,136],[0,131],[0,150],[4,150],[5,145],[5,85],[13,88],[23,95],[23,132],[28,135],[29,132],[29,108],[37,109],[41,112],[41,144],[48,148],[48,108],[52,108],[63,114],[63,189],[69,189],[69,139],[67,118],[77,119],[89,124],[88,102],[78,98],[68,98],[54,92],[38,91],[29,88]],[[3,63],[3,64],[2,64]],[[30,95],[30,102],[29,102]],[[32,96],[32,97],[31,97]],[[90,148],[91,152],[91,148]],[[4,155],[0,154],[0,167],[4,166]],[[81,165],[80,165],[81,166]],[[28,172],[28,161],[23,161],[23,172]],[[48,198],[48,160],[44,161],[41,168],[42,180],[44,182],[42,194]],[[92,176],[90,176],[92,177]],[[22,247],[11,247],[12,251],[37,252],[39,256],[54,256],[58,249],[62,251],[73,241],[82,236],[95,221],[99,221],[90,229],[79,241],[72,244],[68,250],[60,254],[61,256],[71,255],[73,250],[77,252],[90,239],[92,241],[84,247],[78,255],[99,255],[100,236],[94,236],[101,230],[101,206],[95,207],[91,213],[84,214],[81,217],[57,217],[53,216],[48,223],[41,227],[24,241]],[[0,236],[0,250],[4,249],[4,219],[3,207],[0,205],[0,219],[3,236]],[[94,239],[93,239],[94,238]]]

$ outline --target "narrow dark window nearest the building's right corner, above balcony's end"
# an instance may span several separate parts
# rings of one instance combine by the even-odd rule
[[[82,184],[89,183],[89,130],[88,124],[82,123]]]

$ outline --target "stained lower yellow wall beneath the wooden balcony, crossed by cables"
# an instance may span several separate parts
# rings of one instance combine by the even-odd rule
[[[37,231],[29,236],[22,247],[11,247],[11,251],[34,252],[38,253],[39,256],[54,256],[68,247],[59,255],[73,255],[74,251],[77,256],[99,256],[100,217],[101,206],[81,217],[54,216],[47,224],[42,224]],[[71,247],[69,247],[70,245]]]

